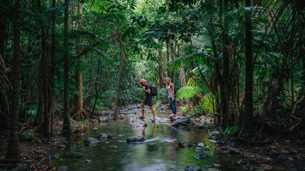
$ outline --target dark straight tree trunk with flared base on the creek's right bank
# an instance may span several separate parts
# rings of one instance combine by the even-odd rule
[[[251,6],[251,0],[245,0],[246,7]],[[239,132],[240,138],[251,138],[254,135],[253,128],[253,54],[252,54],[252,23],[251,12],[246,12],[246,92],[245,92],[245,114],[241,129]]]

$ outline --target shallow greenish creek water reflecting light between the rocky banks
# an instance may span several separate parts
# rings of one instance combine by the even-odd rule
[[[127,110],[128,113],[140,114],[140,109]],[[156,112],[157,117],[167,117],[168,113]],[[146,115],[149,120],[151,114]],[[97,127],[93,130],[92,127]],[[85,146],[84,139],[99,133],[114,134],[113,139],[101,141],[92,146]],[[127,144],[126,139],[132,135],[141,135],[145,141],[140,144]],[[202,129],[178,129],[168,123],[147,122],[145,129],[133,129],[128,120],[110,121],[91,125],[82,135],[68,140],[64,150],[53,150],[53,154],[60,154],[57,159],[49,162],[54,166],[66,165],[69,170],[184,170],[187,165],[197,165],[205,170],[208,166],[222,171],[242,170],[243,165],[235,155],[219,154],[214,151],[215,143],[208,141],[209,135]],[[189,142],[194,146],[179,148],[178,142]],[[198,143],[206,144],[209,149],[206,158],[197,159]],[[63,158],[65,152],[80,152],[83,158]],[[90,160],[90,162],[86,162]],[[220,165],[220,166],[219,166]],[[273,167],[273,170],[279,170]]]

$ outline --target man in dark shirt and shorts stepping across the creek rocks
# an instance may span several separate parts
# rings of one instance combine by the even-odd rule
[[[150,107],[151,111],[153,111],[153,115],[154,115],[153,120],[155,120],[156,115],[155,115],[155,108],[153,106],[153,96],[150,95],[150,85],[144,79],[140,80],[140,84],[142,86],[143,91],[145,92],[145,99],[143,100],[143,102],[141,104],[142,116],[140,118],[142,118],[142,119],[145,118],[144,105],[146,105],[146,106]]]

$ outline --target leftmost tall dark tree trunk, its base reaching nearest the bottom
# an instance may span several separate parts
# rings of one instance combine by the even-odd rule
[[[15,158],[19,151],[19,57],[20,57],[20,25],[21,1],[16,0],[14,24],[14,51],[13,51],[13,94],[11,110],[11,129],[6,158]]]

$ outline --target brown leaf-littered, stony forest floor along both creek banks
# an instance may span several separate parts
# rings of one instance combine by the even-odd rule
[[[166,106],[161,106],[158,110],[166,110]],[[86,131],[91,123],[105,121],[110,118],[112,111],[98,111],[96,116],[89,119],[87,124],[78,125],[72,123],[74,135],[79,135]],[[179,112],[178,115],[181,115]],[[105,117],[106,116],[106,117]],[[121,115],[119,119],[128,119],[132,116]],[[198,121],[198,118],[193,118]],[[212,118],[204,117],[204,120],[211,122]],[[204,123],[204,122],[203,122]],[[52,155],[51,151],[54,148],[66,148],[66,138],[60,136],[63,122],[59,121],[53,125],[54,134],[50,139],[43,139],[41,129],[32,127],[28,124],[21,124],[20,127],[33,129],[36,132],[36,138],[32,141],[20,141],[21,157],[18,161],[5,160],[7,142],[9,138],[9,130],[0,131],[0,171],[1,168],[14,168],[19,164],[20,170],[22,167],[30,168],[30,170],[56,170],[55,167],[43,165],[43,161],[49,158],[57,158]],[[263,139],[263,138],[261,138]],[[249,163],[252,165],[261,165],[264,170],[272,169],[272,163],[283,164],[289,170],[305,170],[305,141],[296,139],[284,139],[283,136],[272,136],[264,138],[263,141],[246,142],[241,139],[227,139],[219,141],[215,145],[215,149],[220,153],[230,153],[240,157],[240,163]],[[261,163],[268,163],[262,165]],[[23,165],[20,163],[23,163]],[[17,166],[18,167],[18,166]]]

